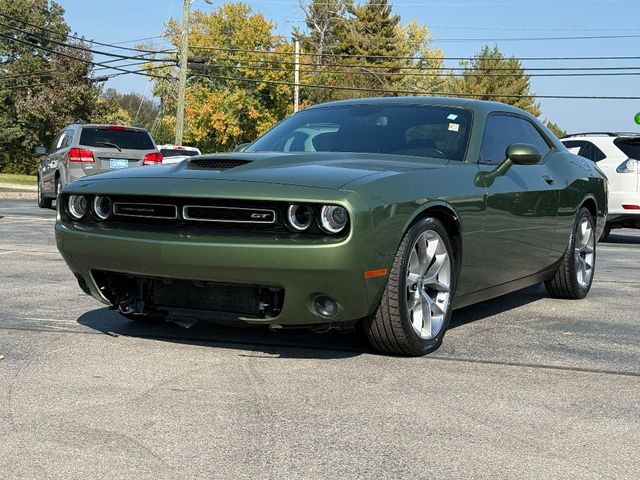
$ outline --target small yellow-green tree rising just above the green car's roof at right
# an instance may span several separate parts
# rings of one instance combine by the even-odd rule
[[[505,57],[497,45],[485,45],[473,60],[462,61],[460,66],[467,70],[460,77],[449,79],[449,89],[454,94],[495,100],[540,115],[540,105],[533,97],[522,64],[515,57]]]

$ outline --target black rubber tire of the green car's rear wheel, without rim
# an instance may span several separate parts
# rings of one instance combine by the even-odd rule
[[[575,224],[571,230],[569,245],[567,246],[567,250],[560,261],[560,265],[558,266],[555,276],[544,283],[547,287],[547,291],[552,297],[579,300],[586,297],[589,290],[591,290],[596,262],[596,242],[593,242],[593,265],[591,267],[590,278],[588,282],[586,282],[586,285],[581,285],[578,281],[578,269],[576,268],[575,260],[577,231],[581,222],[585,218],[588,219],[592,232],[594,232],[592,235],[595,235],[595,220],[593,215],[591,215],[591,212],[589,212],[588,209],[583,207],[578,211]]]

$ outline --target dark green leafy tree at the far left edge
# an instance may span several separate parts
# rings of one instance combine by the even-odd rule
[[[88,79],[91,55],[73,48],[86,45],[60,45],[69,32],[60,5],[0,0],[0,11],[0,169],[33,173],[33,147],[88,120],[99,89]]]

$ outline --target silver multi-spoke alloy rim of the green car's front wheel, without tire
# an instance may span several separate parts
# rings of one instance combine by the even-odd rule
[[[445,322],[451,291],[451,259],[435,230],[414,242],[406,277],[407,314],[413,331],[423,340],[435,338]]]

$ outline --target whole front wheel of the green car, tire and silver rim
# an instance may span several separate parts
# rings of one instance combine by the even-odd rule
[[[456,284],[453,247],[444,225],[425,218],[405,234],[373,317],[364,322],[378,350],[419,356],[442,343]]]

